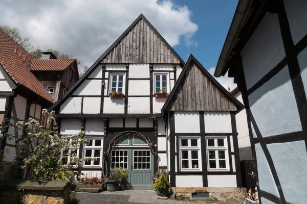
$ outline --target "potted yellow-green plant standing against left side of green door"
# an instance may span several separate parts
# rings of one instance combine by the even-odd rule
[[[118,191],[119,186],[127,179],[127,173],[122,167],[113,169],[111,178],[106,179],[107,191]]]

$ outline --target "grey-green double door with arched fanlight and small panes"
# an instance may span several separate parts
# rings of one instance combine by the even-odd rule
[[[111,156],[111,168],[115,167],[127,172],[128,189],[152,189],[153,154],[140,136],[117,140]]]

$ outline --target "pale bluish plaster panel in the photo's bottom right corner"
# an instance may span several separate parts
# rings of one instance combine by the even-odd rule
[[[286,201],[306,203],[307,152],[305,142],[275,143],[267,146]]]

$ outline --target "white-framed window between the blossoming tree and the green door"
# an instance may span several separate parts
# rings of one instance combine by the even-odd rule
[[[85,137],[84,138],[89,144],[84,144],[83,158],[95,158],[96,160],[84,161],[83,166],[101,167],[102,163],[102,137]]]

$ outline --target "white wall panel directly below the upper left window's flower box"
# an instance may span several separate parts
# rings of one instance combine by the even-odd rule
[[[103,113],[125,113],[125,98],[104,97]]]

